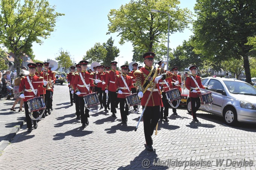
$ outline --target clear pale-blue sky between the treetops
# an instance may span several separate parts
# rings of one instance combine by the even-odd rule
[[[130,42],[120,45],[120,37],[117,33],[106,35],[108,32],[108,12],[110,9],[119,9],[120,6],[130,2],[130,0],[49,0],[50,5],[56,6],[56,12],[64,13],[59,17],[55,32],[50,38],[43,40],[42,45],[33,44],[35,59],[44,61],[55,60],[58,51],[63,48],[69,51],[75,62],[78,63],[86,54],[86,51],[94,46],[96,42],[103,43],[112,36],[114,45],[119,48],[119,58],[116,61],[123,65],[125,61],[132,61],[133,47]],[[188,8],[194,12],[196,0],[180,0],[181,8]],[[190,25],[191,26],[191,25]],[[176,48],[182,45],[184,40],[188,40],[192,32],[189,29],[182,33],[171,34],[169,47]],[[167,38],[167,35],[166,35]]]

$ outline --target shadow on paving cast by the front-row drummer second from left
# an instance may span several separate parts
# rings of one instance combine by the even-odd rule
[[[83,129],[85,129],[85,128],[78,127],[78,128],[72,129],[70,131],[66,131],[64,133],[57,133],[56,135],[54,135],[53,140],[62,140],[66,136],[70,136],[70,135],[73,137],[82,137],[82,136],[93,133],[93,131],[83,131]]]

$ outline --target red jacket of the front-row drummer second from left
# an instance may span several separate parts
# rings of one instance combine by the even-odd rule
[[[91,80],[90,78],[93,78],[93,75],[90,75],[91,73],[88,71],[81,71],[80,72],[82,74],[82,77],[85,81],[85,83],[89,86],[89,90],[85,87],[80,74],[76,73],[75,75],[75,80],[73,82],[73,88],[75,90],[75,92],[81,92],[80,95],[78,95],[79,97],[82,97],[84,95],[88,95],[91,93],[91,88],[90,86],[97,86],[96,84],[93,83],[93,80]]]

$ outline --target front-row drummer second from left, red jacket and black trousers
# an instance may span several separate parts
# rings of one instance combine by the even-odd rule
[[[97,83],[99,83],[99,80],[91,80],[90,78],[93,78],[93,75],[91,75],[86,69],[88,62],[85,60],[82,60],[79,62],[81,64],[82,71],[79,72],[79,76],[75,76],[75,80],[73,82],[73,88],[78,95],[79,98],[79,108],[80,108],[80,115],[81,115],[81,123],[82,127],[85,128],[86,125],[89,125],[88,117],[89,110],[84,107],[84,95],[88,95],[91,92],[90,86],[97,86]]]

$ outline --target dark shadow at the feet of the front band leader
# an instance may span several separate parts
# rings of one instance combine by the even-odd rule
[[[130,165],[125,167],[119,167],[118,170],[128,170],[128,169],[168,169],[168,166],[155,166],[154,162],[157,163],[160,159],[157,158],[155,152],[149,152],[148,150],[143,150],[138,156],[136,156],[131,162]]]

